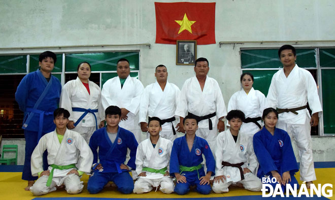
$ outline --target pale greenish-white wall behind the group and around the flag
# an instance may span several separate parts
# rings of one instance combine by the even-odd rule
[[[155,44],[154,1],[0,0],[0,5],[0,48],[5,48],[0,49],[0,54],[38,53],[44,50],[43,48],[23,51],[6,49],[12,47],[148,43],[151,45],[150,49],[146,46],[80,49],[82,51],[140,50],[140,79],[144,86],[154,82],[154,68],[158,64],[168,67],[169,81],[180,88],[185,79],[194,75],[192,66],[175,64],[175,45]],[[278,48],[284,43],[244,43],[219,47],[219,42],[310,41],[299,42],[296,46],[334,47],[334,42],[313,42],[334,39],[334,7],[335,2],[331,0],[217,1],[216,44],[197,46],[197,57],[208,58],[209,76],[219,82],[227,104],[233,92],[240,89],[240,48]],[[68,49],[72,50],[78,48]],[[52,51],[62,50],[55,48]],[[328,138],[324,142],[333,143],[335,138]],[[317,143],[314,145],[315,148],[324,146],[320,142]],[[331,157],[331,161],[335,161],[335,158]]]

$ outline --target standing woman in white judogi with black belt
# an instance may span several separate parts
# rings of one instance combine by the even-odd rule
[[[243,111],[246,121],[242,124],[240,131],[252,140],[252,136],[262,127],[261,116],[268,106],[264,94],[252,87],[254,76],[251,73],[243,73],[240,81],[243,88],[231,96],[227,110],[228,112],[237,109]]]

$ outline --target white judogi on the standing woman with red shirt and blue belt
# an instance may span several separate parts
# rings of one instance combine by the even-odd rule
[[[105,119],[105,110],[101,103],[101,90],[93,82],[88,82],[90,94],[84,84],[77,79],[66,83],[61,91],[59,107],[64,108],[70,112],[70,121],[75,123],[84,112],[72,111],[73,107],[79,107],[84,109],[98,109],[95,112],[97,126]],[[92,113],[87,113],[81,122],[73,129],[80,133],[86,142],[89,142],[93,132],[95,131],[95,118]]]

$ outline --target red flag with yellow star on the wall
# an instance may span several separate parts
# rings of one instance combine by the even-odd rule
[[[215,3],[158,3],[156,43],[196,41],[197,45],[215,44]]]

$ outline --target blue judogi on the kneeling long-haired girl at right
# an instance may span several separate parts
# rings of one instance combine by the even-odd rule
[[[293,184],[297,184],[298,181],[295,179],[294,174],[298,170],[298,165],[294,156],[292,144],[289,135],[282,129],[275,128],[275,134],[272,135],[269,131],[263,127],[253,137],[254,151],[259,162],[259,168],[257,176],[261,179],[262,177],[270,176],[272,178],[271,171],[276,170],[280,176],[284,172],[289,171],[291,175],[291,181],[288,183],[293,187]],[[275,188],[277,183],[271,183]],[[285,188],[282,185],[283,191]]]

